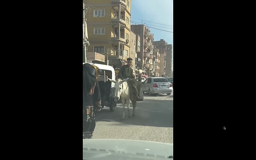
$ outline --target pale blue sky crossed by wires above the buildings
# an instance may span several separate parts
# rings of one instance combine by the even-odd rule
[[[145,24],[154,34],[154,41],[163,39],[173,45],[173,0],[130,1],[131,25]]]

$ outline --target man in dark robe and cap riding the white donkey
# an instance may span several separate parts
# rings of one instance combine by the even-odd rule
[[[119,72],[118,72],[118,78],[120,79],[127,79],[128,84],[130,84],[131,92],[133,94],[133,99],[136,101],[143,101],[142,98],[140,98],[140,89],[141,89],[141,82],[134,79],[133,69],[132,67],[132,58],[127,58],[127,64],[123,65]]]

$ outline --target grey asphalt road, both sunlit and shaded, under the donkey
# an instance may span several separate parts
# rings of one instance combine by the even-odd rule
[[[130,103],[130,112],[133,108]],[[144,93],[144,101],[137,102],[135,117],[128,118],[127,105],[125,119],[122,118],[122,104],[117,104],[113,112],[109,107],[96,112],[96,128],[93,139],[147,140],[173,143],[173,93],[170,96]]]

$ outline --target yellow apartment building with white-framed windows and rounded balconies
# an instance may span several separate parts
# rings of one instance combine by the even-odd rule
[[[88,52],[103,54],[105,64],[120,68],[131,54],[131,0],[83,0],[83,3],[87,9]]]

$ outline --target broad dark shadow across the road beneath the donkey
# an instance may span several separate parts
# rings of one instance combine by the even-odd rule
[[[121,120],[123,114],[122,104],[117,104],[113,112],[109,110],[109,107],[102,108],[102,111],[96,112],[95,119],[96,121],[119,122],[115,123],[115,125],[173,127],[172,103],[173,101],[171,100],[144,99],[143,102],[137,102],[135,117],[132,116],[133,108],[132,105],[130,105],[131,118],[128,118],[127,105],[125,105],[124,120]]]

